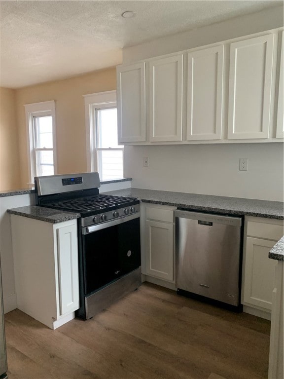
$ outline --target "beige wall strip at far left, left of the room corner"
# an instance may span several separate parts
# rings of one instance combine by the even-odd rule
[[[0,88],[0,190],[21,188],[16,91]]]

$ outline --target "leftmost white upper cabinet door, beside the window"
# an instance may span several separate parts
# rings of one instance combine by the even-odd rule
[[[117,67],[118,142],[146,141],[145,63]]]

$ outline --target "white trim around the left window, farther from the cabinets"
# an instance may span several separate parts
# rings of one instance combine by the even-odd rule
[[[26,112],[26,132],[27,132],[27,152],[29,168],[29,186],[34,186],[35,173],[35,146],[34,146],[34,116],[45,115],[47,112],[52,116],[52,140],[53,140],[53,165],[54,174],[57,174],[57,154],[56,154],[56,122],[55,122],[55,101],[43,101],[41,103],[25,104]]]

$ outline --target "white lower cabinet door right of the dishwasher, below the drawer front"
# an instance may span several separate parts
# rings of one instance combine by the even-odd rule
[[[244,303],[271,310],[274,269],[277,261],[268,258],[276,241],[247,237]]]

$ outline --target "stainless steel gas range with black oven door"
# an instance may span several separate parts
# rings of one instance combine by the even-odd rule
[[[97,312],[141,285],[140,204],[99,193],[99,174],[35,178],[36,204],[80,213],[77,316]]]

